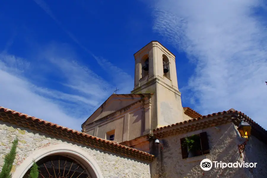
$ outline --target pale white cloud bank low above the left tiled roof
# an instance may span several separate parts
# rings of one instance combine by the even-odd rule
[[[14,58],[14,56],[10,57]],[[51,122],[58,121],[57,123],[60,125],[66,122],[66,127],[72,126],[72,128],[80,130],[80,125],[76,120],[66,115],[57,104],[36,94],[32,83],[7,72],[4,68],[7,66],[4,67],[2,63],[0,66],[1,106]]]

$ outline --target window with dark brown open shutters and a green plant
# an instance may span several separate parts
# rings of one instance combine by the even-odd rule
[[[209,141],[206,132],[181,138],[182,159],[209,153]]]

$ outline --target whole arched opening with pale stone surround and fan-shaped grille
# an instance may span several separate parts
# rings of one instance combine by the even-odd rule
[[[35,160],[37,165],[40,166],[39,171],[45,170],[46,172],[50,174],[49,175],[47,173],[48,174],[47,175],[45,174],[45,172],[42,171],[42,174],[45,174],[45,176],[42,174],[39,174],[39,178],[75,178],[74,176],[77,176],[76,178],[87,178],[87,177],[88,178],[103,178],[101,170],[98,164],[93,159],[90,152],[83,150],[81,147],[78,147],[76,145],[70,145],[70,144],[56,144],[56,145],[51,145],[51,146],[44,147],[44,148],[34,151],[16,169],[12,177],[13,178],[28,178],[28,174],[30,173],[31,166],[33,165],[33,160]],[[65,164],[64,161],[66,163],[65,166],[64,166]],[[45,166],[44,166],[44,163],[45,163]],[[65,173],[63,176],[64,168],[65,168]],[[54,172],[54,169],[55,169],[55,172]],[[66,175],[67,169],[69,172],[68,175]],[[74,173],[75,169],[76,169],[76,172]],[[60,174],[59,174],[59,171],[60,171]],[[76,173],[78,172],[81,175],[79,174],[77,175]],[[74,175],[72,176],[71,173]]]

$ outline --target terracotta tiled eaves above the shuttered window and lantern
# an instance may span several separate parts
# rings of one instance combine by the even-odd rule
[[[213,116],[218,116],[218,117],[210,121],[205,121],[206,118],[211,118]],[[183,133],[187,131],[199,130],[202,128],[210,127],[211,125],[227,123],[230,120],[238,124],[241,118],[244,118],[251,125],[252,128],[251,134],[267,144],[267,131],[263,127],[261,127],[258,123],[249,118],[247,115],[245,115],[240,111],[236,111],[235,109],[229,109],[228,111],[217,112],[206,116],[185,120],[184,122],[156,128],[153,130],[153,132],[155,136],[163,137],[172,135],[174,133]],[[203,120],[203,122],[198,123],[196,122],[197,120]],[[186,123],[190,124],[183,126]],[[178,126],[181,126],[181,128],[177,128]]]

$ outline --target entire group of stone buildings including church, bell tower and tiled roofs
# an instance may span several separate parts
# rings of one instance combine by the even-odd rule
[[[40,178],[267,177],[265,129],[234,109],[202,116],[182,107],[175,55],[159,42],[134,58],[131,94],[112,94],[81,132],[0,107],[0,170],[18,137],[13,178],[28,177],[33,160]],[[251,126],[247,142],[237,129],[244,122]],[[204,171],[206,158],[257,166]]]

